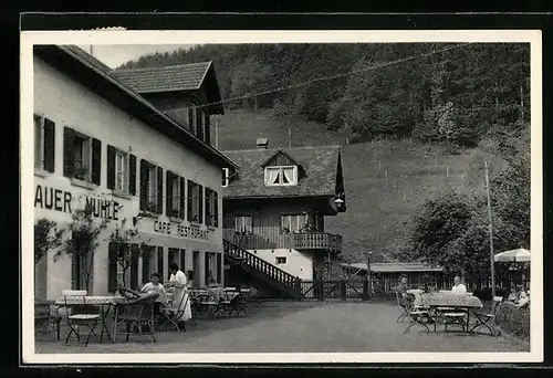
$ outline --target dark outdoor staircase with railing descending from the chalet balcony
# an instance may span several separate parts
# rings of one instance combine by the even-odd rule
[[[229,264],[239,265],[253,277],[261,280],[283,296],[300,300],[303,297],[300,279],[268,263],[255,254],[223,239],[225,260]]]

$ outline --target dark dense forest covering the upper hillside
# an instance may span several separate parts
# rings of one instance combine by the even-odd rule
[[[122,67],[213,61],[227,109],[272,108],[351,143],[413,136],[455,150],[528,123],[529,53],[512,43],[208,44]]]

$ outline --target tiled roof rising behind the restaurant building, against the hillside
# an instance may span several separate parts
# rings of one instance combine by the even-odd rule
[[[165,67],[114,70],[123,84],[138,93],[160,93],[199,90],[211,62],[169,65]]]

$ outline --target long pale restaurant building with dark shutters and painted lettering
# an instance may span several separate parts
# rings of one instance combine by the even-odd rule
[[[111,235],[122,224],[138,231],[126,286],[138,287],[153,272],[168,280],[169,262],[191,271],[195,286],[223,285],[221,168],[238,167],[209,141],[82,50],[43,45],[34,50],[34,143],[35,223],[52,220],[69,238],[77,209],[88,209],[95,223],[107,221],[91,274],[81,253],[50,251],[35,263],[36,297],[66,288],[115,292],[123,267]]]

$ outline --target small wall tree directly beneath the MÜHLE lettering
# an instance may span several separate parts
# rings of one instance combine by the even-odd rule
[[[74,255],[81,264],[81,271],[84,277],[84,286],[90,290],[91,276],[94,267],[94,254],[100,245],[98,237],[107,227],[107,221],[96,220],[92,216],[92,208],[75,210],[72,214],[72,221],[69,224],[70,238],[64,242],[63,248],[56,252],[56,256],[66,253]]]

